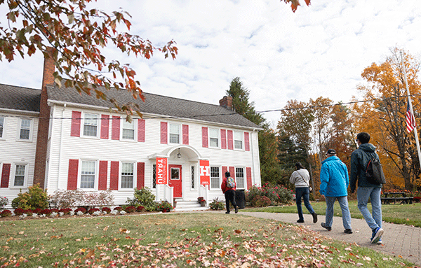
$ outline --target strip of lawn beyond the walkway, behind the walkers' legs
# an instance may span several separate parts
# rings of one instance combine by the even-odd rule
[[[316,213],[320,215],[326,214],[325,202],[311,202],[311,204]],[[304,207],[304,204],[302,206]],[[371,204],[368,204],[368,209],[371,211]],[[246,209],[246,211],[297,213],[297,206],[295,206],[295,204],[291,204],[288,206]],[[349,200],[349,211],[351,211],[352,218],[363,218],[358,207],[356,206],[356,200]],[[303,209],[303,212],[308,213],[306,209]],[[338,202],[335,202],[334,215],[342,216]],[[387,223],[397,223],[421,227],[421,203],[382,205],[382,216],[383,220]]]

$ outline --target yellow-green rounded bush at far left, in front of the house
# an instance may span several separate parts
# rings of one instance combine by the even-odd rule
[[[13,209],[46,209],[48,207],[47,191],[39,184],[29,186],[27,192],[20,192],[12,201]]]

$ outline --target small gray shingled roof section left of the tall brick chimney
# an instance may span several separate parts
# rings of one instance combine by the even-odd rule
[[[0,108],[39,112],[41,90],[0,84]]]

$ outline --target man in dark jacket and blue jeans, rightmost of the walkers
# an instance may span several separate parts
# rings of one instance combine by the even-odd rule
[[[370,141],[370,134],[361,132],[356,135],[356,142],[359,145],[357,150],[354,150],[351,155],[351,192],[355,192],[356,181],[358,180],[358,190],[356,197],[358,199],[358,208],[363,215],[366,223],[371,228],[371,243],[382,244],[382,201],[380,199],[380,192],[382,191],[381,184],[372,184],[367,181],[366,169],[368,162],[375,158],[379,159],[375,153],[373,144]],[[370,199],[372,213],[367,208],[368,199]]]

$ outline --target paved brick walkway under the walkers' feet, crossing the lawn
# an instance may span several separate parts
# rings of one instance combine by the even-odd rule
[[[225,213],[225,211],[223,212]],[[326,237],[347,243],[356,243],[359,246],[366,246],[375,251],[388,253],[396,257],[401,255],[402,258],[421,266],[421,228],[419,227],[383,223],[382,228],[385,230],[382,236],[383,245],[376,245],[370,243],[371,230],[366,220],[363,219],[352,218],[351,225],[354,233],[345,234],[341,217],[333,218],[332,230],[328,232],[320,225],[320,223],[325,221],[324,215],[319,216],[317,223],[313,223],[312,216],[304,214],[305,223],[297,223],[298,214],[296,213],[243,212],[240,210],[239,214],[304,225],[310,230],[320,232]]]

